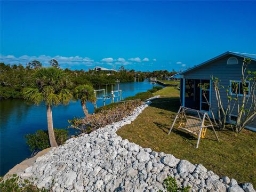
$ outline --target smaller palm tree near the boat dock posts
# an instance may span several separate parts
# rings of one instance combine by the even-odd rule
[[[90,85],[78,85],[77,87],[75,87],[74,99],[81,101],[81,105],[82,105],[85,116],[89,115],[85,107],[85,103],[86,102],[94,103],[97,101],[97,98],[95,97],[95,94],[94,94],[94,89]]]

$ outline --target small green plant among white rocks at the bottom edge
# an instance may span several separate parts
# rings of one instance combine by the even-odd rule
[[[188,192],[190,189],[190,186],[187,187],[178,187],[176,179],[173,177],[167,177],[164,179],[164,189],[166,192]],[[159,190],[159,192],[163,192],[162,190]]]

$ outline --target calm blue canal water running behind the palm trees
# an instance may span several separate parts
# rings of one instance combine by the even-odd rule
[[[120,83],[119,89],[122,90],[122,99],[133,96],[136,93],[147,91],[153,86],[150,82],[131,82]],[[106,87],[101,87],[106,88]],[[113,86],[117,90],[117,85]],[[111,92],[111,86],[108,86],[108,93]],[[103,94],[103,93],[101,93]],[[99,97],[99,95],[98,95]],[[117,98],[115,98],[117,100]],[[1,175],[7,173],[13,166],[29,158],[31,151],[26,145],[25,134],[34,133],[36,130],[47,129],[46,107],[27,105],[21,99],[1,100]],[[106,100],[106,104],[111,100]],[[97,107],[103,105],[102,99],[98,99]],[[93,113],[92,103],[87,103],[89,113]],[[83,117],[83,110],[79,101],[70,102],[67,106],[58,106],[53,108],[54,128],[65,129],[69,126],[68,119],[74,117]],[[74,130],[73,130],[74,131]],[[72,132],[70,130],[70,132]]]

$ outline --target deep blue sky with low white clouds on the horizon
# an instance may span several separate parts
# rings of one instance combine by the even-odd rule
[[[179,70],[256,53],[256,2],[1,1],[1,61]]]

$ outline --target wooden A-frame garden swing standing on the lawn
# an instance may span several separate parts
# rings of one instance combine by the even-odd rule
[[[188,113],[193,114],[193,116],[192,115],[190,116]],[[197,143],[196,143],[196,148],[198,148],[198,146],[199,146],[200,139],[205,138],[205,133],[206,133],[206,130],[208,127],[212,128],[217,141],[220,142],[208,113],[206,113],[204,111],[199,111],[196,109],[191,109],[188,107],[180,106],[179,111],[174,118],[174,121],[172,123],[172,126],[171,126],[168,134],[171,133],[171,131],[174,127],[174,124],[178,118],[180,118],[180,123],[179,123],[178,129],[184,130],[184,131],[188,132],[189,134],[193,134],[198,137]],[[210,125],[205,125],[205,118],[208,120]],[[186,122],[184,122],[184,120]]]

